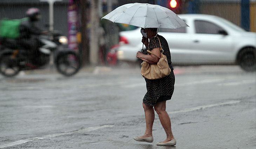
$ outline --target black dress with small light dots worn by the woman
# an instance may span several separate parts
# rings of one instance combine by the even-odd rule
[[[157,34],[157,37],[160,39],[162,48],[164,50],[163,54],[166,55],[169,67],[171,68],[171,73],[161,79],[148,80],[145,78],[147,93],[143,98],[143,103],[148,106],[155,106],[159,101],[170,100],[174,92],[174,83],[175,76],[173,73],[173,67],[171,66],[171,53],[169,50],[168,43],[163,36]],[[156,37],[153,37],[149,41],[148,50],[160,47],[159,40]],[[143,54],[148,54],[147,50]]]

